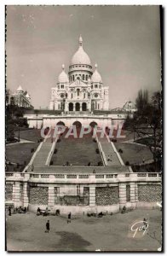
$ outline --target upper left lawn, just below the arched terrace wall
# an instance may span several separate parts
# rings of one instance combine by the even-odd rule
[[[30,130],[25,130],[25,131],[20,131],[20,139],[24,139],[27,141],[32,141],[32,142],[36,142],[38,140],[40,140],[41,137],[41,130],[40,129],[30,129]],[[19,136],[19,132],[15,131],[14,132],[14,137],[18,137]]]

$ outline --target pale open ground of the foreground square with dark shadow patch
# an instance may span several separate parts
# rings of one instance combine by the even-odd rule
[[[131,226],[147,218],[148,230],[135,237]],[[45,233],[49,219],[50,231]],[[135,210],[107,215],[103,218],[73,217],[67,224],[65,217],[37,217],[35,213],[14,214],[7,217],[8,251],[158,251],[161,247],[162,212]],[[155,233],[154,233],[155,232]],[[155,237],[154,237],[155,234]]]

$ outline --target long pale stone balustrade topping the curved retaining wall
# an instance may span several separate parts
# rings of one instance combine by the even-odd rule
[[[6,181],[27,181],[33,183],[121,183],[160,182],[160,172],[125,173],[28,173],[8,172]]]

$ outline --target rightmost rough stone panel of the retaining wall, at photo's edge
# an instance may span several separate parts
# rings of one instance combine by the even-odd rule
[[[156,184],[138,184],[138,201],[162,201],[162,186]]]

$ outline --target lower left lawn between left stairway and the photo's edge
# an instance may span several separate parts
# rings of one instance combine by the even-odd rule
[[[26,165],[32,158],[32,154],[34,154],[35,150],[39,143],[17,143],[13,145],[6,146],[6,160],[19,163],[20,165],[24,165],[26,161]],[[32,148],[34,148],[34,152],[31,152]],[[12,168],[9,166],[9,171],[12,172]]]

